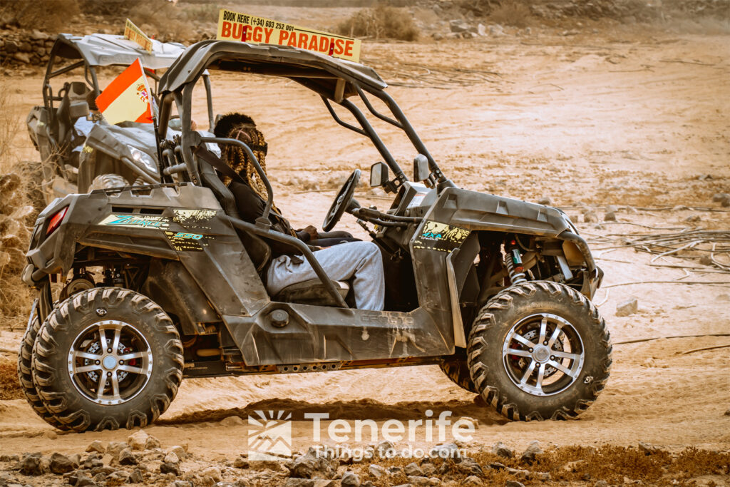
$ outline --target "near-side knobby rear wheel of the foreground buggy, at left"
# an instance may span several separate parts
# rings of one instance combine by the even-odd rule
[[[31,371],[46,409],[85,432],[155,421],[177,394],[183,366],[183,345],[161,307],[128,289],[93,288],[46,318]]]

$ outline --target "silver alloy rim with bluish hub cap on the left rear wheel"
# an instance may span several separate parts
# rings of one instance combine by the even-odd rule
[[[152,349],[144,335],[124,321],[104,320],[77,334],[68,355],[77,391],[96,404],[134,399],[152,375]]]

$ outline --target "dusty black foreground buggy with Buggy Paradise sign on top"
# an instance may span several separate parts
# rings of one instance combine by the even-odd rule
[[[369,229],[385,263],[385,311],[354,309],[349,283],[329,280],[307,245],[271,229],[274,194],[258,162],[265,215],[239,218],[214,168],[223,163],[201,158],[200,147],[238,145],[255,161],[250,147],[183,129],[162,142],[160,183],[72,194],[37,219],[23,280],[39,297],[19,373],[42,418],[75,431],[133,428],[164,413],[183,377],[423,364],[439,364],[513,420],[572,418],[596,400],[611,364],[591,303],[602,271],[563,212],[457,188],[376,72],[292,47],[188,47],[161,78],[161,137],[174,110],[190,126],[205,69],[287,77],[372,141],[385,164],[372,165],[370,183],[395,193],[391,207],[353,199],[356,169],[323,228],[350,212]],[[410,139],[413,180],[360,101]],[[260,276],[272,242],[309,261],[318,279],[269,296]],[[53,281],[66,283],[55,302]]]

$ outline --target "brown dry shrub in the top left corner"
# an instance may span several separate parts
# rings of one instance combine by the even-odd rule
[[[78,0],[15,0],[0,7],[0,18],[7,23],[51,32],[60,31],[78,14]]]

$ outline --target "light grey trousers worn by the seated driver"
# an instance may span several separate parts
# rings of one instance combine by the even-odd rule
[[[355,304],[361,310],[383,310],[385,306],[385,277],[383,256],[373,242],[348,242],[317,250],[315,258],[332,280],[353,280]],[[269,293],[279,293],[288,285],[316,279],[309,262],[301,258],[292,261],[290,256],[274,258],[266,273]]]

